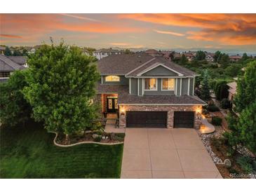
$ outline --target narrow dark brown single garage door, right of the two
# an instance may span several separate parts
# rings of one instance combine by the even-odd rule
[[[194,111],[175,111],[174,128],[194,128]]]

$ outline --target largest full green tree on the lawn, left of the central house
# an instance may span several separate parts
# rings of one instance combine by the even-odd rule
[[[47,130],[71,135],[89,128],[97,117],[95,85],[100,75],[80,48],[43,45],[29,57],[24,94],[36,121]]]

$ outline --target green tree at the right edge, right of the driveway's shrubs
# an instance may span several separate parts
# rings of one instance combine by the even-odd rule
[[[245,67],[245,74],[238,78],[236,90],[235,110],[241,112],[256,100],[256,61]]]

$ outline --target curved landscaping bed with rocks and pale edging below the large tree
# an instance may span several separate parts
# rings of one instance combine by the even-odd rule
[[[67,141],[66,136],[63,134],[58,134],[55,139],[57,144],[61,145],[71,145],[78,144],[82,142],[97,142],[102,144],[119,144],[124,141],[125,133],[108,133],[103,131],[87,131],[81,133],[81,135],[69,136]]]

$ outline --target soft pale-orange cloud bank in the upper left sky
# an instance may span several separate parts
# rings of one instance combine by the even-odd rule
[[[73,18],[74,21],[67,21],[65,18]],[[90,32],[98,34],[116,34],[128,32],[143,32],[139,27],[130,27],[119,22],[96,22],[71,14],[0,14],[2,37],[11,37],[15,32],[22,36],[21,41],[34,41],[41,36],[47,36],[50,32]],[[8,41],[7,39],[5,41]]]

